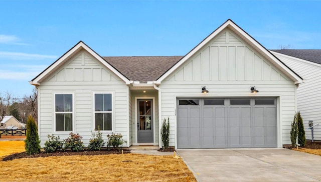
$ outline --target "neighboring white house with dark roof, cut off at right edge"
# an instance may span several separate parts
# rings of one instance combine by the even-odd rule
[[[303,118],[306,139],[312,139],[309,120],[313,121],[313,138],[321,140],[321,50],[271,50],[282,62],[304,78],[297,88],[297,110]]]

